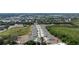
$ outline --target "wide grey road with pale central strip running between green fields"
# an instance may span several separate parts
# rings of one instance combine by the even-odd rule
[[[31,36],[30,36],[29,39],[37,41],[37,42],[41,42],[41,37],[44,37],[47,44],[58,44],[58,43],[60,43],[59,38],[51,35],[47,31],[46,25],[39,25],[39,24],[32,25],[32,33],[31,33]]]

